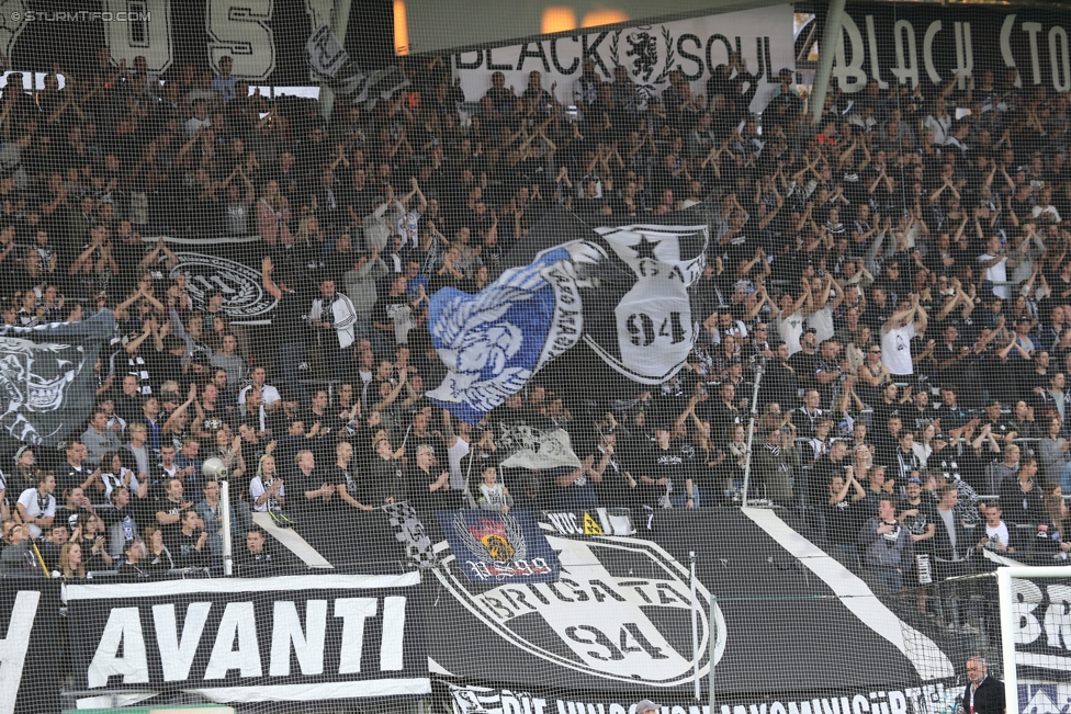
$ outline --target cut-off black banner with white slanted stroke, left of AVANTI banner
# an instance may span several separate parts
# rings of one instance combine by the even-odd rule
[[[59,583],[4,579],[0,587],[0,714],[58,712],[63,681]]]

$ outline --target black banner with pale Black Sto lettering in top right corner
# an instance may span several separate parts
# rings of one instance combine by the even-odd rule
[[[974,98],[984,101],[990,92],[981,82],[983,71],[993,72],[994,94],[1003,94],[1007,71],[1015,69],[1023,91],[1044,86],[1051,95],[1071,90],[1069,29],[1067,12],[848,4],[833,78],[845,93],[863,91],[875,79],[882,90],[922,84],[923,95],[932,99],[957,76],[962,78],[958,89],[966,90],[972,75]]]

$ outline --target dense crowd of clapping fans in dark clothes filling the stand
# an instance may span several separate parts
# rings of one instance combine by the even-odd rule
[[[8,76],[2,321],[106,307],[119,327],[84,427],[0,454],[5,574],[218,568],[210,457],[257,568],[258,512],[730,506],[748,462],[751,498],[891,587],[916,552],[943,576],[978,548],[1067,559],[1067,94],[990,70],[932,95],[871,80],[815,125],[791,70],[753,113],[736,57],[655,95],[588,63],[571,87],[496,72],[464,97],[435,59],[327,123],[221,68],[160,81],[103,49],[61,88]],[[688,366],[612,409],[537,375],[484,422],[451,419],[425,396],[444,374],[429,298],[482,290],[557,206],[706,212]],[[257,237],[271,327],[230,325],[221,291],[194,301],[165,235]],[[564,429],[580,466],[499,474],[503,423]]]

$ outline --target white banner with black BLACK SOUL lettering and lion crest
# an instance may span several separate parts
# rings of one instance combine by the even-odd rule
[[[520,95],[528,87],[528,73],[538,70],[543,73],[543,89],[550,91],[556,82],[554,94],[567,105],[573,103],[573,81],[579,78],[585,58],[595,60],[596,71],[606,81],[613,80],[615,67],[627,67],[629,78],[646,95],[661,94],[674,69],[684,72],[694,92],[706,94],[713,68],[729,63],[730,50],[740,52],[747,70],[757,78],[752,111],[760,111],[777,86],[777,72],[796,66],[792,5],[476,49],[454,55],[453,64],[470,101],[487,92],[495,71],[501,71],[506,87]]]

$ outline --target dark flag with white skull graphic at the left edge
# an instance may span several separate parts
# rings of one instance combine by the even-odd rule
[[[19,441],[54,446],[93,408],[93,365],[115,319],[0,327],[0,427]]]

